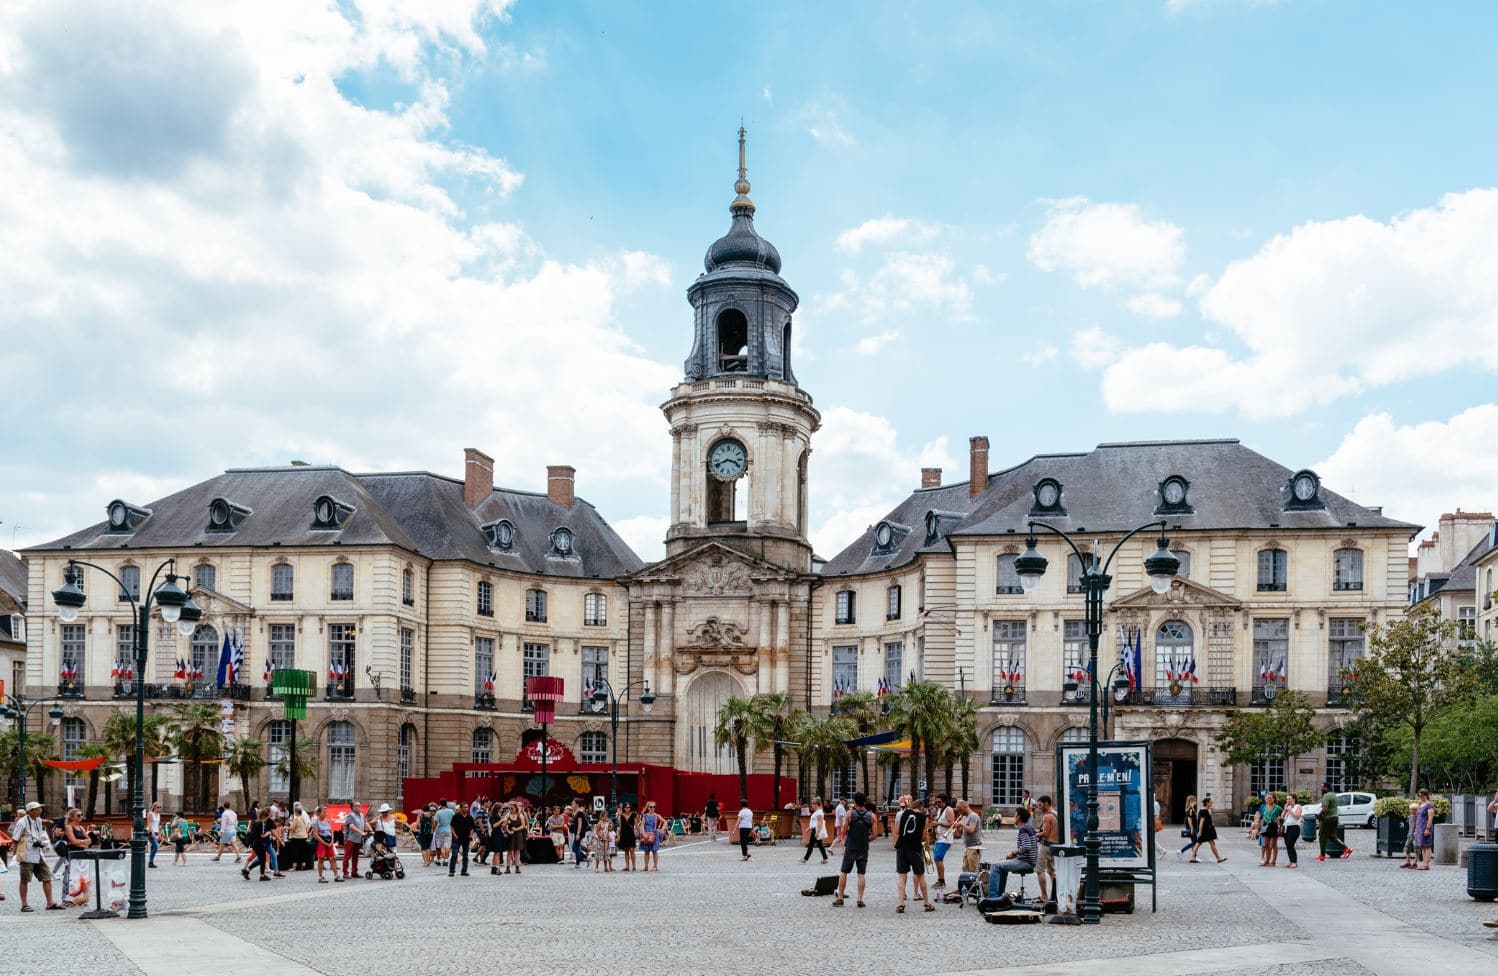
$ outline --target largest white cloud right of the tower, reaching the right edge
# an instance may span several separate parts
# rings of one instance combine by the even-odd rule
[[[1498,368],[1498,189],[1450,193],[1389,222],[1309,222],[1200,289],[1231,346],[1129,350],[1107,371],[1118,409],[1173,376],[1210,395],[1191,410],[1293,416],[1308,407],[1456,368]],[[1446,350],[1443,355],[1437,350]]]

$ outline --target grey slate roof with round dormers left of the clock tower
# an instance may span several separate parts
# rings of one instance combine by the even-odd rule
[[[312,527],[313,501],[324,494],[354,507],[339,530]],[[252,513],[237,531],[208,531],[208,503],[214,498],[228,498]],[[470,510],[463,503],[463,482],[427,472],[354,475],[325,466],[231,469],[142,507],[151,516],[130,534],[109,533],[108,522],[100,521],[34,549],[395,545],[428,558],[464,558],[551,576],[611,578],[643,566],[583,498],[563,509],[544,494],[496,488]],[[490,549],[481,528],[500,518],[515,527],[511,552]],[[572,530],[575,558],[551,552],[551,533],[560,527]]]

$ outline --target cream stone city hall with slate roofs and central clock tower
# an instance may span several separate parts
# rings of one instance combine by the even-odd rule
[[[395,799],[404,777],[517,756],[533,728],[530,675],[565,678],[550,733],[583,763],[611,756],[607,716],[587,702],[607,681],[625,699],[620,760],[730,772],[713,742],[725,698],[783,692],[825,713],[845,690],[914,677],[975,699],[974,799],[1013,804],[1022,789],[1053,789],[1056,744],[1085,738],[1088,722],[1085,693],[1064,689],[1085,665],[1079,564],[1041,534],[1050,572],[1026,593],[1014,570],[1026,524],[1107,552],[1164,519],[1180,558],[1165,593],[1143,573],[1152,534],[1125,543],[1112,570],[1100,677],[1135,636],[1141,663],[1113,708],[1113,735],[1155,741],[1155,783],[1173,814],[1186,793],[1221,802],[1342,780],[1356,748],[1344,736],[1251,768],[1222,765],[1213,736],[1230,710],[1285,687],[1309,695],[1327,729],[1347,720],[1339,671],[1363,653],[1365,626],[1402,611],[1417,525],[1234,440],[1098,445],[1005,458],[995,472],[989,439],[974,437],[965,481],[920,472],[878,524],[816,558],[807,510],[819,415],[792,371],[798,298],[755,229],[742,135],[736,193],[730,231],[688,289],[691,349],[662,406],[664,560],[644,564],[625,545],[575,494],[572,467],[550,467],[545,494],[499,488],[476,449],[461,478],[291,464],[229,470],[157,500],[100,500],[103,521],[25,552],[27,686],[64,699],[63,756],[96,739],[144,681],[151,708],[223,704],[235,733],[274,760],[292,726],[270,671],[300,668],[318,678],[297,729],[318,754],[306,796]],[[84,570],[85,606],[72,623],[57,615],[49,593],[70,558],[106,567],[135,596],[172,558],[204,618],[187,636],[154,620],[145,672],[123,669],[135,621],[108,576]],[[225,638],[243,665],[220,686]],[[1194,681],[1180,678],[1189,672]],[[768,754],[752,762],[768,771]],[[834,778],[848,789],[846,772]],[[54,777],[54,796],[60,786]],[[225,777],[217,793],[237,786]],[[273,762],[249,792],[288,787]]]

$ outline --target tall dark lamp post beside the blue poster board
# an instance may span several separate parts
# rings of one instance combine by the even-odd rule
[[[1098,837],[1098,639],[1103,636],[1103,594],[1107,593],[1109,585],[1113,578],[1109,576],[1109,567],[1113,564],[1113,557],[1119,554],[1124,543],[1128,542],[1137,533],[1146,528],[1159,530],[1159,545],[1155,551],[1144,558],[1144,575],[1149,576],[1149,585],[1155,593],[1164,593],[1170,588],[1170,581],[1180,569],[1180,560],[1170,554],[1170,543],[1165,540],[1165,522],[1164,519],[1144,522],[1138,528],[1131,530],[1122,539],[1115,543],[1113,551],[1104,560],[1098,554],[1098,542],[1092,542],[1092,555],[1083,555],[1077,543],[1073,542],[1071,536],[1056,528],[1055,525],[1047,525],[1046,522],[1031,521],[1029,537],[1025,540],[1025,552],[1022,552],[1014,560],[1014,572],[1020,576],[1020,585],[1026,593],[1034,593],[1035,587],[1040,585],[1040,578],[1046,575],[1046,557],[1035,549],[1035,530],[1044,528],[1046,531],[1055,533],[1062,537],[1062,540],[1071,546],[1071,551],[1077,554],[1077,560],[1082,561],[1082,591],[1086,599],[1086,629],[1088,629],[1088,654],[1089,666],[1088,672],[1092,678],[1088,681],[1089,686],[1089,714],[1088,714],[1088,834],[1083,840],[1086,847],[1086,888],[1082,904],[1082,921],[1086,925],[1097,925],[1103,921],[1103,885],[1098,871],[1098,847],[1101,846],[1101,838]]]

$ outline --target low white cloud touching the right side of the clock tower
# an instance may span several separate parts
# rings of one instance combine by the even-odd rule
[[[923,467],[954,470],[945,437],[902,451],[887,418],[828,407],[816,433],[812,484],[812,543],[831,558],[921,484]]]

